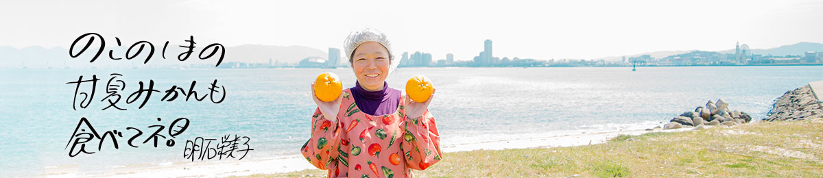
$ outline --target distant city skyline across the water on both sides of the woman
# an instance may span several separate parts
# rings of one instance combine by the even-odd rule
[[[760,50],[760,53],[752,52],[748,45],[735,45],[733,53],[730,52],[708,52],[708,51],[687,51],[665,57],[653,57],[650,54],[622,56],[619,61],[607,61],[604,59],[533,59],[520,57],[495,57],[493,55],[492,41],[486,39],[484,48],[472,61],[453,61],[451,53],[445,59],[433,60],[430,53],[416,51],[409,55],[403,52],[400,58],[399,67],[444,67],[444,66],[470,66],[470,67],[552,67],[552,66],[783,66],[783,65],[823,65],[823,43],[796,43],[780,48]],[[328,60],[320,57],[305,57],[299,64],[272,65],[271,60],[267,66],[262,64],[247,62],[229,62],[229,66],[222,68],[328,68],[347,67],[337,63],[339,52],[337,49],[329,48]],[[339,51],[339,50],[337,50]],[[730,50],[731,51],[731,50]],[[655,54],[656,56],[658,54]],[[632,71],[635,69],[633,68]]]

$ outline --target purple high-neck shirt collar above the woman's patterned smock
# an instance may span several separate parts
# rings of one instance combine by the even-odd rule
[[[389,88],[388,82],[385,81],[383,90],[379,91],[367,91],[360,87],[360,82],[355,82],[355,86],[351,87],[351,95],[355,97],[360,112],[372,116],[383,116],[397,111],[400,94],[400,90]]]

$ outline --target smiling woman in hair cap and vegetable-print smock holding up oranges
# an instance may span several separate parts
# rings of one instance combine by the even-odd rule
[[[386,35],[376,30],[349,34],[346,55],[357,81],[331,102],[312,98],[312,137],[300,152],[329,177],[410,177],[441,158],[435,118],[425,103],[417,103],[386,78],[393,62]],[[436,91],[436,89],[435,89]]]

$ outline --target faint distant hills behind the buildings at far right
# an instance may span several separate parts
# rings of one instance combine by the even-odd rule
[[[742,45],[742,44],[741,44]],[[751,47],[751,46],[750,46]],[[718,51],[720,53],[734,53],[734,48]],[[632,55],[625,55],[625,58],[628,59],[629,57],[639,57],[642,55],[649,55],[654,58],[663,58],[677,54],[684,54],[688,52],[694,52],[697,50],[686,50],[686,51],[659,51],[659,52],[644,52],[639,54],[632,54]],[[803,55],[805,52],[823,52],[823,43],[810,43],[810,42],[801,42],[795,43],[791,45],[783,45],[778,48],[767,48],[767,49],[751,49],[751,52],[754,54],[761,54],[761,55],[773,55],[773,56],[786,56],[786,55]],[[620,57],[600,57],[595,58],[595,60],[605,60],[605,61],[621,61],[622,56]]]

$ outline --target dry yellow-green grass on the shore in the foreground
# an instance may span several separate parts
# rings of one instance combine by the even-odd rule
[[[605,144],[444,153],[419,177],[818,177],[823,120],[620,135]],[[325,176],[323,170],[249,177]]]

